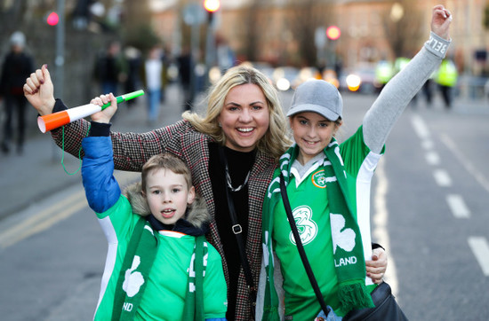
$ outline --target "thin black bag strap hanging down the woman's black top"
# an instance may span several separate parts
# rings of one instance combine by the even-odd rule
[[[226,160],[226,156],[224,155],[223,148],[219,146],[220,160],[225,167],[228,167],[228,160]],[[246,278],[246,284],[248,285],[248,289],[250,290],[250,300],[252,301],[252,313],[254,317],[254,307],[256,305],[256,287],[253,282],[252,270],[250,269],[250,264],[248,262],[248,256],[246,255],[246,251],[244,249],[244,241],[243,241],[243,229],[241,225],[237,222],[237,215],[235,209],[235,203],[231,198],[231,193],[228,189],[228,184],[225,185],[226,197],[228,199],[228,209],[229,209],[229,217],[231,218],[231,230],[236,236],[237,247],[239,250],[239,258],[241,260],[241,266],[244,270],[244,278]]]

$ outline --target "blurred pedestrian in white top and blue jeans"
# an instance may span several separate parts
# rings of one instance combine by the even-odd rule
[[[164,82],[164,64],[158,46],[148,52],[148,58],[144,61],[143,75],[144,87],[147,91],[148,124],[154,126],[158,120]]]

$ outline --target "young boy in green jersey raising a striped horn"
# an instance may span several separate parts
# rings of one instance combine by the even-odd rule
[[[197,198],[186,164],[172,154],[155,155],[141,183],[121,193],[113,176],[109,137],[116,112],[111,102],[92,115],[83,140],[86,198],[108,239],[108,254],[95,320],[225,320],[227,287],[220,254],[205,241],[210,219]]]

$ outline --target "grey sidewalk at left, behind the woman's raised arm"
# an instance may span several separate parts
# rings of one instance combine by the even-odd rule
[[[181,119],[183,107],[178,85],[172,84],[166,90],[166,100],[161,107],[160,126],[172,124]],[[197,96],[196,103],[202,100]],[[116,131],[145,132],[154,129],[146,121],[146,99],[138,98],[130,109],[121,104],[113,121]],[[0,153],[0,220],[8,215],[33,206],[56,192],[72,184],[81,185],[81,174],[65,173],[61,164],[61,149],[56,146],[49,133],[43,134],[37,129],[36,112],[32,106],[28,112],[28,135],[21,155],[15,149],[5,155]],[[74,107],[74,106],[68,106]],[[200,105],[199,105],[200,107]],[[32,119],[34,118],[34,120]],[[79,160],[65,154],[65,167],[73,173],[80,166]]]

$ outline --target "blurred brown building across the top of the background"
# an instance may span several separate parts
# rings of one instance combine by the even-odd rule
[[[449,55],[461,72],[487,71],[485,51],[489,36],[484,27],[487,0],[221,0],[213,30],[226,39],[240,60],[273,65],[331,64],[345,67],[379,59],[411,56],[429,37],[431,8],[444,4],[453,13]],[[153,25],[165,43],[178,51],[188,42],[191,28],[184,21],[190,0],[151,0]],[[317,30],[336,25],[338,40],[317,42]],[[204,48],[206,20],[199,27]],[[325,43],[324,46],[321,44]],[[317,45],[319,44],[319,46]],[[314,52],[313,52],[314,51]]]

